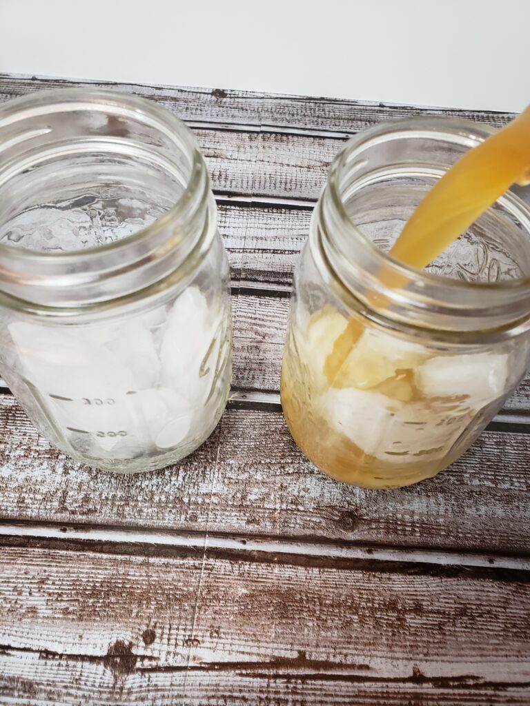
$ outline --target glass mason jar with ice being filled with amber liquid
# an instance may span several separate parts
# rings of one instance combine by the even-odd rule
[[[387,253],[435,181],[492,131],[380,124],[331,164],[295,272],[281,398],[295,441],[337,479],[394,488],[434,476],[529,366],[529,189],[505,193],[427,270]]]

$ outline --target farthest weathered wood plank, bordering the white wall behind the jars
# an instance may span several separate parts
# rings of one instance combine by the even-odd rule
[[[97,86],[134,92],[162,104],[189,123],[216,122],[241,126],[285,128],[287,130],[331,131],[351,134],[382,120],[418,114],[464,117],[502,126],[511,113],[435,107],[391,105],[355,100],[271,95],[259,92],[175,86],[114,83],[112,81],[68,80],[0,74],[0,100],[45,88],[71,85]]]

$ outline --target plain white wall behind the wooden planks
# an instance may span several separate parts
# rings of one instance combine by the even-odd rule
[[[0,0],[0,71],[520,110],[530,0]]]

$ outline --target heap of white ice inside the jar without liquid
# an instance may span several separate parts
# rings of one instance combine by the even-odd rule
[[[23,377],[66,438],[83,435],[95,456],[146,455],[201,436],[209,423],[204,407],[219,362],[221,309],[191,286],[168,311],[117,326],[58,330],[16,321],[8,328]]]

